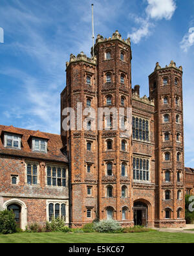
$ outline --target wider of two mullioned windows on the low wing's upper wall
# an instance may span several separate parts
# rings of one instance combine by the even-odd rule
[[[66,187],[66,170],[64,167],[47,166],[47,185]]]

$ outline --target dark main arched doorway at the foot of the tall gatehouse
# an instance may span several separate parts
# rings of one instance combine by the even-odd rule
[[[133,204],[133,218],[135,226],[147,226],[147,204],[135,202]]]

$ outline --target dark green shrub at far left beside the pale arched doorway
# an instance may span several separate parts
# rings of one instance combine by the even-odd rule
[[[16,233],[16,221],[13,211],[5,210],[0,212],[0,233]]]

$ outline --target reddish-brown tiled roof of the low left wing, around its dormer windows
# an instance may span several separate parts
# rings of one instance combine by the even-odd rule
[[[3,134],[5,132],[21,135],[21,150],[5,148],[5,146],[3,145]],[[50,161],[63,161],[66,163],[68,162],[67,156],[65,156],[61,152],[63,148],[63,143],[61,141],[61,136],[58,134],[48,134],[46,132],[26,130],[22,128],[16,128],[14,126],[0,125],[0,136],[0,154],[30,157]],[[29,139],[31,137],[47,139],[47,153],[32,152],[29,145]]]

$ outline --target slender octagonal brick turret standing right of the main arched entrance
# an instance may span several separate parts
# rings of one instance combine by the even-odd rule
[[[155,100],[155,226],[184,226],[182,67],[156,63],[149,76]]]

